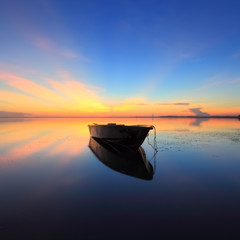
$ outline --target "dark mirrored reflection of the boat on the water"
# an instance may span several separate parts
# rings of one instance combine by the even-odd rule
[[[145,180],[153,178],[152,164],[142,147],[132,149],[91,137],[89,148],[109,168]]]

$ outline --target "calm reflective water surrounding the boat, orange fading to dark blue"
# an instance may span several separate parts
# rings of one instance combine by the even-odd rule
[[[152,180],[98,160],[92,122],[155,125]],[[240,239],[240,121],[0,119],[0,239],[126,238]]]

